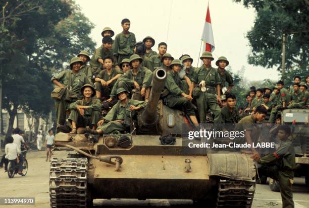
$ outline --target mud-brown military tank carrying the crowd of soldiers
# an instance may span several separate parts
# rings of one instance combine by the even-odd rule
[[[192,199],[196,205],[251,207],[254,163],[245,154],[188,153],[180,134],[184,113],[160,100],[167,73],[153,73],[147,106],[132,132],[102,135],[57,133],[54,150],[74,150],[50,164],[50,206],[91,207],[93,199]],[[173,144],[162,145],[162,135]]]

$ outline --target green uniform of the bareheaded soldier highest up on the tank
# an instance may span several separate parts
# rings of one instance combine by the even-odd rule
[[[123,32],[116,35],[113,50],[114,56],[117,57],[118,63],[120,63],[124,58],[130,58],[133,54],[135,43],[136,38],[132,32],[128,32],[128,37]]]

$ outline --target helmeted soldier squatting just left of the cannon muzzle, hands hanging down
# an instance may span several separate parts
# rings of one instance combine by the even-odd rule
[[[148,68],[140,66],[142,61],[143,59],[139,55],[131,55],[129,64],[132,69],[119,78],[118,87],[124,88],[128,92],[136,89],[148,102],[152,72]]]

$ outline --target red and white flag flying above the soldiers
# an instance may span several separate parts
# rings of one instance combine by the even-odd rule
[[[213,52],[215,50],[215,40],[212,28],[212,21],[210,18],[209,6],[207,6],[206,19],[201,40],[205,44],[205,51]]]

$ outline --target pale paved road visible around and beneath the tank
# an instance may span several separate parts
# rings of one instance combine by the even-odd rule
[[[67,152],[57,152],[54,157],[64,158],[66,154]],[[29,170],[25,177],[15,175],[13,179],[9,179],[8,174],[4,173],[4,169],[0,169],[0,197],[35,197],[35,205],[27,205],[23,207],[49,207],[49,163],[45,162],[44,157],[44,151],[33,151],[27,154]],[[309,187],[304,184],[304,178],[295,178],[293,185],[293,198],[295,202],[295,207],[309,207]],[[191,200],[94,200],[94,205],[96,207],[190,207],[191,204]],[[20,208],[21,206],[0,205],[0,208],[1,207]],[[270,191],[268,185],[257,184],[252,207],[282,207],[280,193]]]

